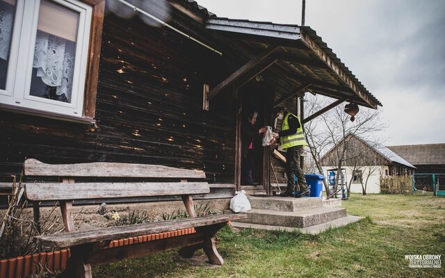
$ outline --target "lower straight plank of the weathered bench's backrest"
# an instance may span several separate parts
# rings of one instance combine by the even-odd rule
[[[26,183],[31,201],[207,194],[207,182]]]

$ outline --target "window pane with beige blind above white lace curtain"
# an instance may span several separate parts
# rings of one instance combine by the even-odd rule
[[[71,102],[79,13],[40,2],[30,95]]]

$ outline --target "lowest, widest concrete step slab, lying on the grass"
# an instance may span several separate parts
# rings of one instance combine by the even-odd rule
[[[242,223],[242,222],[232,222],[232,227],[237,228],[251,228],[251,229],[264,229],[264,230],[280,230],[280,231],[301,231],[304,234],[319,234],[330,228],[343,227],[347,224],[357,222],[362,220],[361,216],[348,215],[343,218],[337,218],[322,224],[314,225],[307,228],[295,228],[295,227],[284,227],[284,226],[273,226],[264,224],[253,224],[253,223]]]

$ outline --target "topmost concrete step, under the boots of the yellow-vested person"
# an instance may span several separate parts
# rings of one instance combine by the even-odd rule
[[[248,198],[252,208],[273,211],[302,211],[305,208],[323,206],[321,198],[317,197],[248,196]]]

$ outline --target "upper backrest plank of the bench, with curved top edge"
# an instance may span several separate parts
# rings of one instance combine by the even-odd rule
[[[202,170],[163,165],[111,162],[47,164],[34,158],[28,158],[24,162],[24,174],[39,177],[178,177],[184,179],[205,179],[206,177]]]

